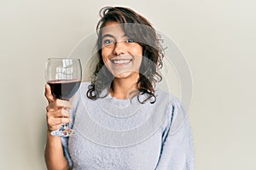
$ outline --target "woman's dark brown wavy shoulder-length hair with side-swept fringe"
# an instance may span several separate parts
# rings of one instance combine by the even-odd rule
[[[91,76],[91,83],[87,91],[89,99],[99,99],[106,88],[113,88],[113,75],[108,71],[102,59],[102,28],[108,21],[115,21],[121,24],[125,35],[143,47],[143,60],[140,65],[137,89],[139,91],[137,99],[140,103],[145,103],[150,99],[154,103],[155,82],[160,82],[159,69],[163,66],[163,48],[160,35],[156,33],[150,22],[142,15],[137,14],[131,8],[124,7],[104,7],[100,10],[100,20],[96,26],[98,39],[96,42],[98,63],[96,70]],[[148,94],[146,99],[140,100],[140,94]],[[105,94],[103,97],[106,97]],[[153,100],[151,99],[153,98]]]

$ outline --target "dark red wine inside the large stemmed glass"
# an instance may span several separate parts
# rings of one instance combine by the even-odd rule
[[[53,80],[47,82],[51,89],[51,94],[57,99],[70,99],[78,91],[81,81],[73,80]]]

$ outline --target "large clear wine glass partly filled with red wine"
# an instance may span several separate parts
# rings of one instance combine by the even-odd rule
[[[82,79],[80,59],[49,58],[45,68],[46,82],[56,99],[69,100],[79,89]],[[53,136],[68,137],[74,130],[61,124],[61,128],[50,133]]]

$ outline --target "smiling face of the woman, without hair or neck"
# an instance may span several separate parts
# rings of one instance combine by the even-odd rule
[[[117,78],[138,75],[143,47],[125,35],[118,22],[108,21],[102,29],[102,59]]]

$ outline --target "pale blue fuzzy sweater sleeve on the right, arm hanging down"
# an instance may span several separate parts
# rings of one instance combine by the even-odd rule
[[[162,134],[156,170],[194,170],[195,153],[189,116],[180,103],[171,105],[170,119]]]

